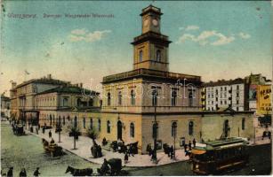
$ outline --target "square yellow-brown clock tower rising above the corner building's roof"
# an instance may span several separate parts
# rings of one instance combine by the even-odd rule
[[[142,9],[142,33],[133,39],[133,69],[169,71],[168,36],[160,32],[161,10],[153,5]]]

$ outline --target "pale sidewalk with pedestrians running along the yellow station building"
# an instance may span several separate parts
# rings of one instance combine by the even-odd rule
[[[35,128],[34,128],[35,130]],[[51,141],[51,139],[48,136],[48,130],[45,130],[45,133],[42,133],[42,129],[39,131],[39,135],[36,135],[35,131],[34,133],[30,133],[32,135],[36,135],[40,138],[44,138],[47,141]],[[110,158],[121,158],[122,163],[124,166],[131,166],[131,167],[148,167],[148,166],[155,166],[155,164],[150,160],[149,155],[141,155],[141,154],[135,154],[134,157],[129,157],[128,163],[124,164],[124,154],[103,150],[102,149],[102,158],[92,158],[91,154],[91,147],[92,147],[92,139],[86,136],[79,136],[78,141],[76,141],[76,150],[73,150],[74,147],[74,139],[73,137],[69,137],[67,134],[61,134],[60,135],[60,141],[59,141],[59,134],[55,134],[55,130],[52,129],[52,138],[53,140],[60,145],[63,149],[68,150],[69,152],[76,154],[77,156],[84,158],[85,160],[88,160],[95,164],[102,164],[103,159],[110,159]],[[97,142],[100,144],[100,142]],[[41,146],[42,146],[42,140],[41,140]],[[176,160],[170,159],[168,155],[166,155],[164,152],[157,152],[157,165],[166,165],[171,164],[179,161],[188,160],[189,157],[185,157],[184,150],[175,150],[176,154]]]

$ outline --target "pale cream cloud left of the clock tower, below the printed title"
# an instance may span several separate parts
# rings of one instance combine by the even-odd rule
[[[70,42],[97,42],[108,33],[111,33],[111,30],[88,32],[86,29],[75,29],[68,35],[68,39]]]

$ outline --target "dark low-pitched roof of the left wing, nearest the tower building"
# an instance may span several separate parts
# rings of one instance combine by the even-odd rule
[[[86,95],[98,95],[99,92],[92,91],[90,89],[84,89],[76,86],[60,86],[54,89],[48,89],[43,92],[38,93],[37,95],[48,94],[48,93],[69,93],[69,94],[86,94]]]

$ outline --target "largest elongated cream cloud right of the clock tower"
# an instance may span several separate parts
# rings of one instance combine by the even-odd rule
[[[203,31],[199,35],[191,35],[191,34],[184,34],[182,35],[178,42],[176,43],[181,43],[181,42],[186,42],[186,41],[192,41],[192,42],[198,42],[199,45],[225,45],[230,42],[233,42],[235,40],[235,37],[233,35],[226,36],[223,35],[216,30],[211,30],[211,31]]]

